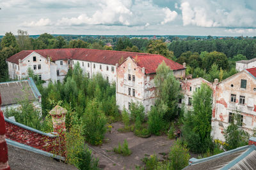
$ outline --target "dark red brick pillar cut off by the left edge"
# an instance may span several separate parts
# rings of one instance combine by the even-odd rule
[[[0,170],[10,170],[10,166],[8,164],[8,149],[5,141],[5,122],[3,111],[1,111],[1,94],[0,94]]]

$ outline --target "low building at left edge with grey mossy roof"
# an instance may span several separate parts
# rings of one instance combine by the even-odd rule
[[[0,83],[2,96],[2,110],[6,108],[19,108],[20,102],[28,100],[42,112],[41,94],[32,78],[20,81],[8,81]]]

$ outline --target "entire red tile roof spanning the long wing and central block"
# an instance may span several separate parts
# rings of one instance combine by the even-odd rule
[[[55,60],[86,60],[90,62],[99,62],[102,64],[115,65],[127,57],[136,58],[138,66],[145,67],[146,74],[156,73],[156,69],[161,62],[166,63],[172,70],[184,69],[182,65],[173,60],[166,59],[161,55],[149,53],[134,53],[134,52],[120,52],[113,50],[95,50],[87,48],[61,48],[61,49],[45,49],[45,50],[23,50],[7,59],[9,62],[19,64],[19,59],[25,59],[32,52],[39,53],[42,57],[50,57],[52,61]]]

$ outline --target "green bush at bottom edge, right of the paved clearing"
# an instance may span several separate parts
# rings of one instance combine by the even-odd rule
[[[170,148],[169,160],[171,169],[183,169],[188,166],[189,162],[189,150],[186,145],[182,146],[179,140],[177,140]]]

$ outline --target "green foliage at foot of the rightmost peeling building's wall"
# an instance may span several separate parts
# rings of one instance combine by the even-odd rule
[[[226,150],[232,150],[240,146],[248,145],[248,139],[250,135],[248,132],[245,132],[243,129],[239,128],[241,124],[240,113],[236,110],[236,113],[233,115],[234,120],[230,122],[227,129],[224,130],[225,145]]]

